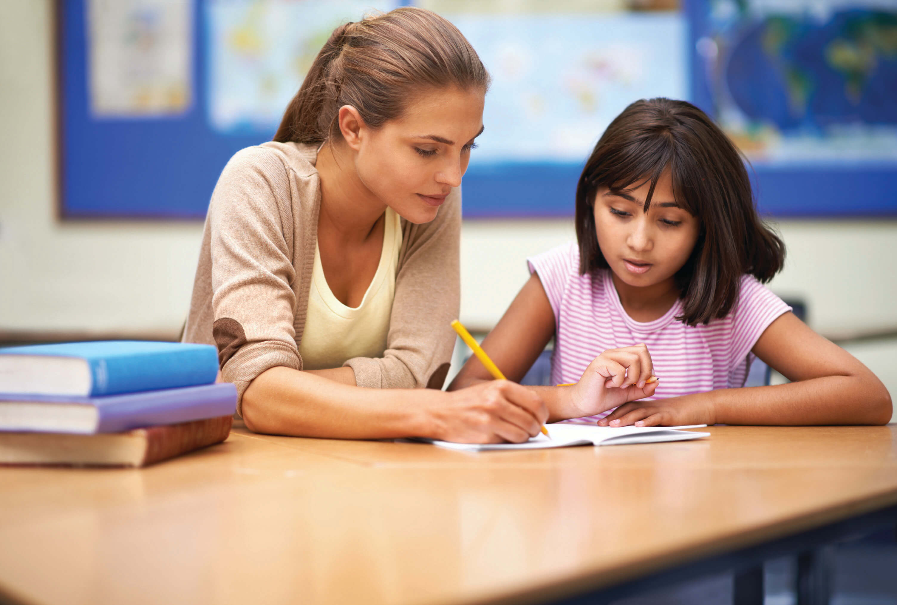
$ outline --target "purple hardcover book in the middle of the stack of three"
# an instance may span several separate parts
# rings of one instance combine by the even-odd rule
[[[236,409],[237,387],[231,382],[107,397],[0,394],[0,431],[120,433],[230,416]]]

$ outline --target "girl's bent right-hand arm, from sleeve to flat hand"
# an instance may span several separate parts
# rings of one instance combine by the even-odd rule
[[[791,312],[770,324],[753,353],[791,382],[627,403],[598,424],[884,425],[891,420],[891,396],[882,381]]]

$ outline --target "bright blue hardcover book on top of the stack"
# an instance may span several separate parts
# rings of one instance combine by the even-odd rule
[[[107,340],[0,349],[0,393],[99,397],[209,384],[214,346]]]

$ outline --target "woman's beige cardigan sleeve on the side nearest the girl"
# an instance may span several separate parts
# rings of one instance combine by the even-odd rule
[[[356,384],[442,388],[455,347],[451,321],[460,306],[460,238],[460,189],[446,197],[430,223],[405,223],[387,350],[382,357],[345,362]]]

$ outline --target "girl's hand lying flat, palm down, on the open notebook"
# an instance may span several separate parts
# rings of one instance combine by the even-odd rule
[[[715,425],[716,414],[708,398],[673,397],[624,403],[598,420],[598,426]]]

